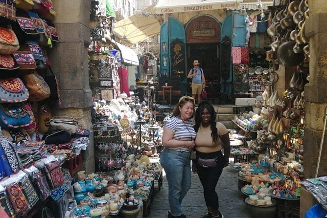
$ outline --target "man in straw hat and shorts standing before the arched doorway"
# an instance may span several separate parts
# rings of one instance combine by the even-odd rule
[[[193,61],[193,68],[187,74],[187,78],[192,78],[192,97],[201,101],[202,88],[206,86],[206,79],[204,77],[203,69],[199,67],[198,60]]]

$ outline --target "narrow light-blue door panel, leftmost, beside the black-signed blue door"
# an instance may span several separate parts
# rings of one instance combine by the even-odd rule
[[[168,23],[161,25],[160,31],[160,51],[161,51],[161,76],[169,76],[169,41],[168,41]]]

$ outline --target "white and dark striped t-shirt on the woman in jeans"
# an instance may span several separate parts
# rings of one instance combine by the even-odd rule
[[[186,122],[184,122],[179,117],[171,117],[166,125],[165,128],[168,128],[172,131],[174,131],[173,139],[180,140],[180,141],[194,141],[196,137],[196,132],[193,128],[193,123],[191,119],[188,119]],[[185,151],[188,152],[188,148],[185,147],[175,147],[175,148],[169,148],[176,151]]]

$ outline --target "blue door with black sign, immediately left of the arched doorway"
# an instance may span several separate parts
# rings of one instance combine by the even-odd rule
[[[183,24],[178,21],[175,18],[168,18],[168,39],[169,39],[169,45],[173,44],[173,42],[179,41],[182,44],[184,44],[184,46],[182,46],[182,51],[181,53],[183,54],[183,59],[184,59],[184,73],[183,74],[179,74],[178,76],[180,77],[180,90],[181,90],[181,94],[184,95],[187,91],[187,80],[186,80],[186,36],[185,36],[185,27],[183,26]],[[174,56],[175,54],[170,54],[170,56]],[[169,65],[171,66],[173,63],[173,59],[170,58],[169,59],[170,63]],[[176,76],[176,72],[172,72],[172,70],[170,70],[170,76]]]

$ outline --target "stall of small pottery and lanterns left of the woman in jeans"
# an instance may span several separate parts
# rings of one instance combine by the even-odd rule
[[[93,201],[104,201],[110,206],[103,213],[111,216],[147,216],[155,184],[160,189],[163,179],[156,157],[162,128],[156,122],[154,89],[145,89],[143,102],[125,93],[110,102],[101,94],[97,99],[93,102],[96,173],[78,173],[82,175],[78,180],[81,188],[77,185],[74,189],[78,193],[75,199],[88,202],[91,208]],[[93,175],[97,182],[88,181]]]

